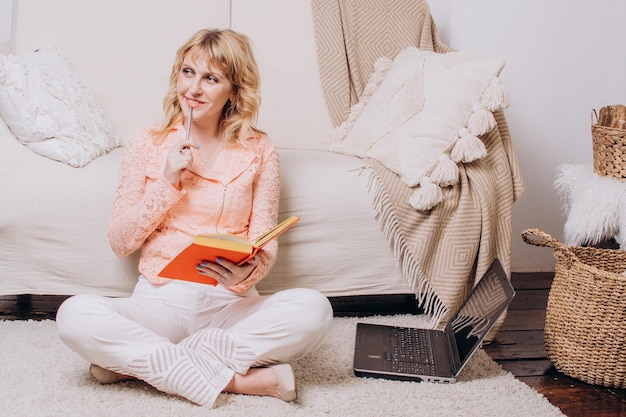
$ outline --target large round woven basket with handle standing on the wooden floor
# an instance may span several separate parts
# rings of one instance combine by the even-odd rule
[[[566,246],[538,229],[522,238],[554,249],[544,331],[550,361],[589,384],[626,388],[626,252]]]

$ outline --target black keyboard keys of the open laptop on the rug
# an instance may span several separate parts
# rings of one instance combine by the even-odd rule
[[[432,375],[435,371],[431,339],[423,329],[391,328],[385,342],[385,360],[394,372]]]

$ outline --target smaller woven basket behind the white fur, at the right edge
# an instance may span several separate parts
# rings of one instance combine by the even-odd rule
[[[602,176],[626,181],[626,130],[597,123],[595,109],[591,113],[593,170]]]

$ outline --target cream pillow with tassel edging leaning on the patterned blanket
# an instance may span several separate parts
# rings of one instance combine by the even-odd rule
[[[458,182],[457,163],[482,158],[478,136],[508,105],[499,58],[408,47],[381,58],[359,102],[327,140],[327,150],[372,158],[417,187],[409,203],[429,210],[440,187]]]

